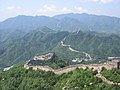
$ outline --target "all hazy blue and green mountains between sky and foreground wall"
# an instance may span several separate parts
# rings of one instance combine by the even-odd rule
[[[120,56],[120,18],[89,14],[54,17],[20,15],[0,22],[0,67],[49,51],[65,58],[80,57],[60,42],[96,58]],[[116,35],[118,34],[118,35]]]

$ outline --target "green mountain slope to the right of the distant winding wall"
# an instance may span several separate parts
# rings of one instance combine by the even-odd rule
[[[115,34],[104,35],[95,32],[75,32],[65,39],[74,49],[90,53],[96,58],[120,56],[120,37]]]

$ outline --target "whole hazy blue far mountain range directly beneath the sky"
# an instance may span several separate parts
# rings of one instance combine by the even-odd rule
[[[61,14],[54,17],[24,16],[0,22],[0,42],[16,34],[21,37],[39,27],[47,26],[59,31],[96,31],[120,34],[120,18],[91,14]]]

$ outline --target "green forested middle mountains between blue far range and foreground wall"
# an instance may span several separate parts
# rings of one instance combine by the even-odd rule
[[[74,52],[69,47],[78,50]],[[21,37],[10,37],[0,43],[0,67],[18,64],[35,55],[54,52],[62,60],[82,58],[83,52],[92,58],[106,59],[109,56],[120,56],[120,37],[115,34],[104,34],[92,31],[54,31],[41,27]]]

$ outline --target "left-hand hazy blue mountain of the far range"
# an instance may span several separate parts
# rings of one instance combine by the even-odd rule
[[[21,37],[32,30],[39,27],[47,26],[54,28],[57,20],[47,16],[24,16],[20,15],[14,18],[6,19],[0,22],[0,41],[4,41],[9,37]],[[17,35],[17,36],[16,36]]]

